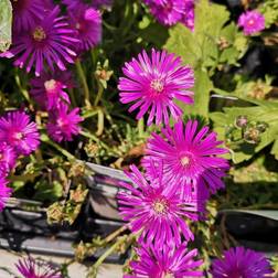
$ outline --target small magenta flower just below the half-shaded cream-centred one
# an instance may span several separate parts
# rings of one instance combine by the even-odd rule
[[[79,108],[68,111],[68,106],[61,104],[60,107],[50,113],[50,121],[47,124],[47,132],[53,140],[61,142],[72,141],[73,136],[81,131],[78,124],[83,118],[78,115]]]

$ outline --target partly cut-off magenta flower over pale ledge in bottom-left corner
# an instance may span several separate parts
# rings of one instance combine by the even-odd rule
[[[15,265],[19,272],[24,278],[62,278],[60,270],[54,268],[50,263],[44,260],[35,261],[34,258],[28,257],[20,259]]]

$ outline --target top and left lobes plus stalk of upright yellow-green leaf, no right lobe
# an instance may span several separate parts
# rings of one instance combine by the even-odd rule
[[[229,12],[224,6],[201,0],[195,6],[195,29],[191,32],[182,24],[170,30],[165,49],[181,56],[195,72],[194,106],[184,108],[184,113],[207,117],[210,92],[213,88],[209,68],[217,65],[220,50],[218,39]],[[234,62],[234,61],[233,61]]]

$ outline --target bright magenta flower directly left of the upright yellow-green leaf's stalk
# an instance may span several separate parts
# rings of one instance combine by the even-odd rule
[[[165,51],[152,50],[148,56],[146,51],[126,63],[118,89],[122,104],[133,103],[129,111],[139,108],[137,119],[150,109],[148,125],[169,122],[169,113],[174,119],[182,115],[182,109],[174,103],[179,99],[193,104],[193,93],[188,90],[194,85],[194,73],[189,66],[183,66],[181,57],[168,54]]]

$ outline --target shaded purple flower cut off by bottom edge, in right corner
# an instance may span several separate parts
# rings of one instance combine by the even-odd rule
[[[258,278],[271,274],[267,258],[252,249],[244,247],[229,248],[223,258],[212,264],[213,278]]]

